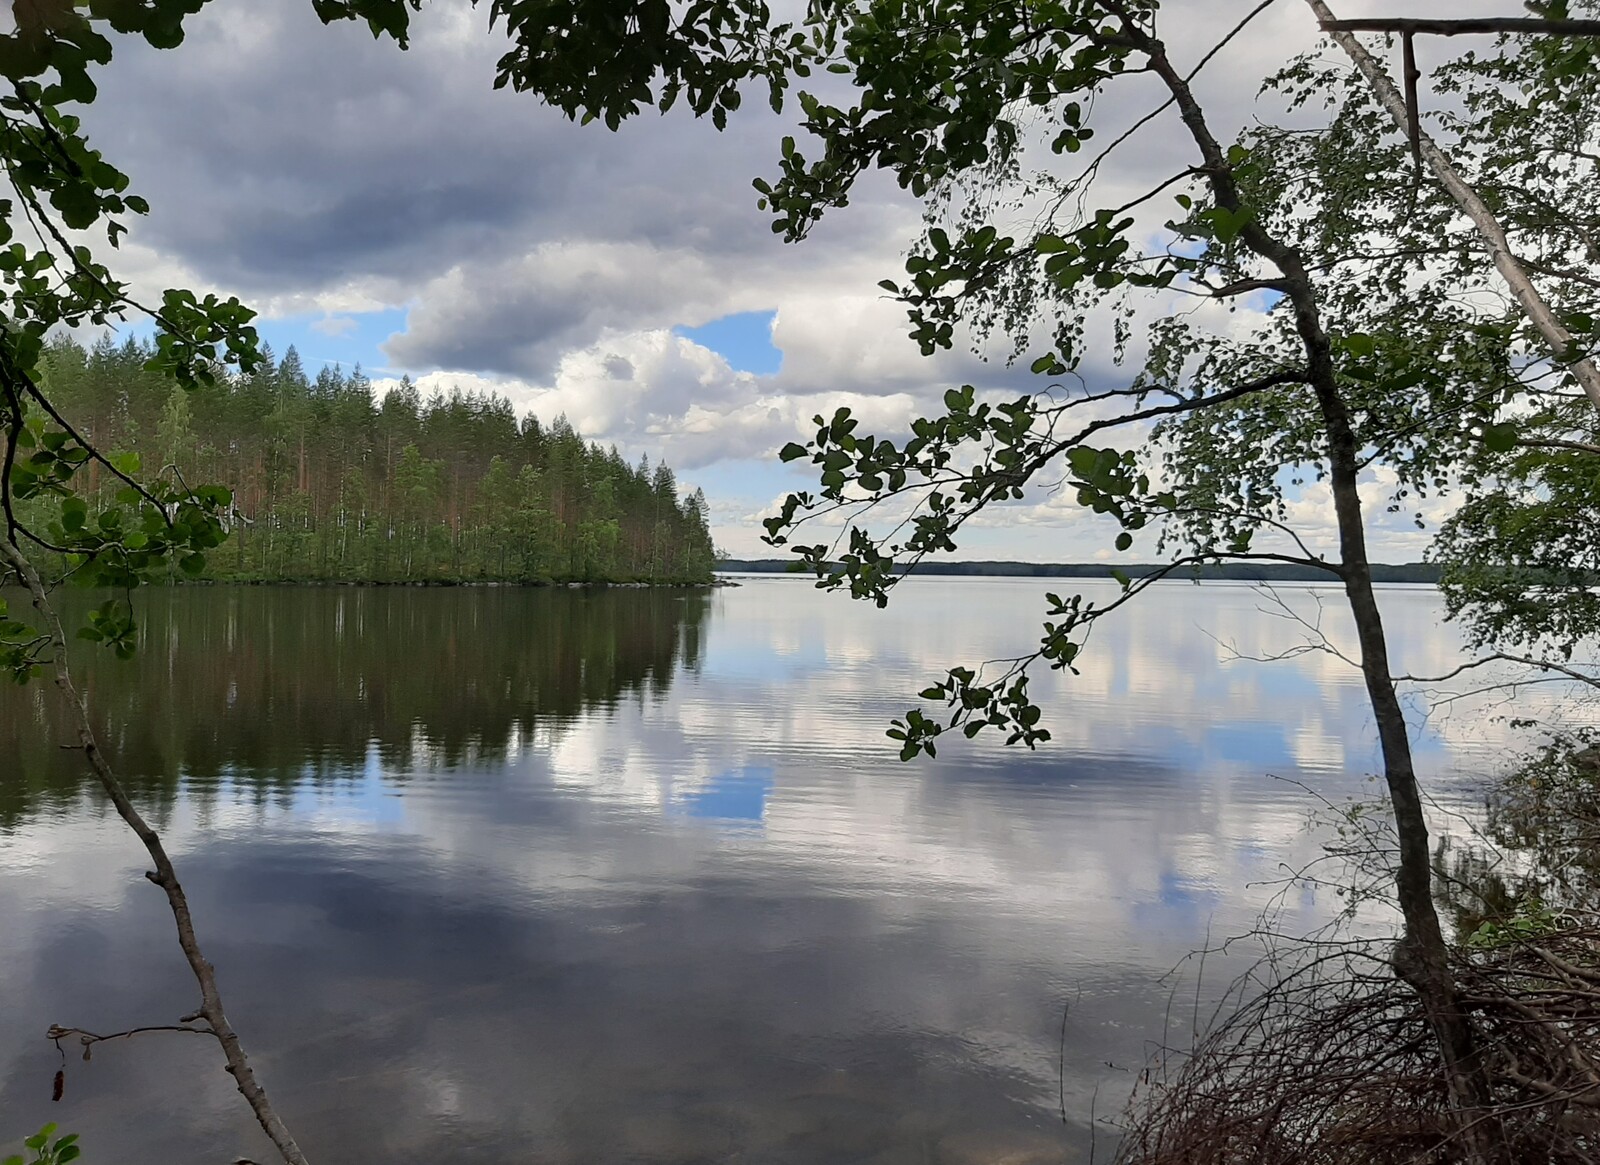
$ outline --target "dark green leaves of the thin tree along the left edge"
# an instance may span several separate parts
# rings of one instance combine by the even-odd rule
[[[21,536],[35,550],[59,555],[86,584],[130,587],[173,563],[190,573],[203,566],[205,552],[222,541],[230,498],[221,488],[141,482],[136,458],[96,450],[43,387],[46,336],[141,312],[157,325],[146,366],[187,389],[214,384],[229,363],[248,371],[259,354],[251,312],[237,299],[170,290],[160,306],[141,304],[88,246],[64,234],[98,230],[115,246],[126,216],[149,210],[66,112],[94,99],[90,67],[110,56],[110,40],[96,22],[163,46],[181,38],[182,18],[198,5],[104,8],[85,14],[70,5],[24,6],[14,13],[16,29],[0,37],[0,69],[10,82],[0,98],[0,163],[14,194],[0,203],[0,243],[10,243],[0,251],[0,509],[13,546]],[[37,242],[16,238],[19,219]],[[86,469],[115,482],[93,514],[78,493]],[[19,515],[24,506],[27,522]],[[125,621],[102,616],[85,627],[88,637],[126,650]],[[43,634],[30,624],[0,626],[0,663],[14,679],[37,669],[43,648]]]

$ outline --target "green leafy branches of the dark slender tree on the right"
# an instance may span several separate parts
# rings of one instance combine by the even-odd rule
[[[1042,378],[1014,398],[952,389],[944,411],[914,421],[902,440],[861,432],[848,410],[818,416],[814,437],[782,458],[810,462],[819,488],[787,498],[766,536],[789,544],[819,586],[883,603],[906,568],[957,549],[968,522],[1040,490],[1062,490],[1101,515],[1118,552],[1141,539],[1170,552],[1170,568],[1242,558],[1363,578],[1355,528],[1341,526],[1341,562],[1291,526],[1291,504],[1307,490],[1354,491],[1354,480],[1334,480],[1344,462],[1381,486],[1378,509],[1424,526],[1429,498],[1462,488],[1493,496],[1523,418],[1571,395],[1560,368],[1528,354],[1526,328],[1494,294],[1470,224],[1416,181],[1358,75],[1315,56],[1291,62],[1267,85],[1283,125],[1259,123],[1224,146],[1187,90],[1210,54],[1174,64],[1157,16],[1154,3],[1117,0],[981,10],[880,0],[818,18],[856,88],[848,104],[802,96],[821,154],[786,142],[778,179],[757,182],[774,230],[803,237],[861,174],[890,170],[930,200],[907,278],[883,282],[906,304],[912,339],[933,352],[1005,338]],[[1541,43],[1528,51],[1554,53]],[[1592,238],[1587,170],[1520,160],[1523,131],[1552,149],[1589,141],[1563,138],[1579,125],[1592,134],[1586,110],[1539,120],[1565,93],[1562,70],[1574,67],[1560,56],[1546,70],[1554,88],[1528,93],[1502,83],[1514,66],[1485,72],[1482,102],[1446,125],[1451,150],[1480,171],[1498,166],[1528,214],[1544,206],[1546,248],[1530,242],[1528,251],[1546,264]],[[1466,86],[1474,69],[1482,72],[1467,64],[1445,83]],[[1106,158],[1133,149],[1133,131],[1077,157],[1094,138],[1093,110],[1110,107],[1106,94],[1130,88],[1131,74],[1166,82],[1166,104],[1200,157],[1163,157],[1170,178],[1096,205]],[[1568,280],[1570,294],[1579,290]],[[1568,318],[1589,326],[1582,312]],[[1125,371],[1107,370],[1107,358]],[[1579,488],[1573,482],[1570,494]],[[848,518],[838,539],[792,544],[829,514]],[[891,517],[874,523],[883,514]],[[1538,515],[1528,525],[1536,541],[1560,544]],[[1482,552],[1504,554],[1502,531],[1491,533]],[[1560,581],[1589,560],[1574,558]],[[1130,576],[1125,597],[1154,578]],[[1123,600],[1046,602],[1035,650],[987,674],[955,667],[923,693],[946,714],[896,723],[907,755],[957,727],[1045,739],[1027,669],[1070,667],[1093,623]]]

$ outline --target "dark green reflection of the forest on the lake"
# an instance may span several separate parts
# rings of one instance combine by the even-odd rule
[[[72,607],[90,599],[66,592]],[[134,786],[293,789],[494,763],[694,669],[702,591],[197,587],[139,595],[141,650],[85,650],[96,731]],[[45,685],[0,693],[0,824],[83,765]]]

